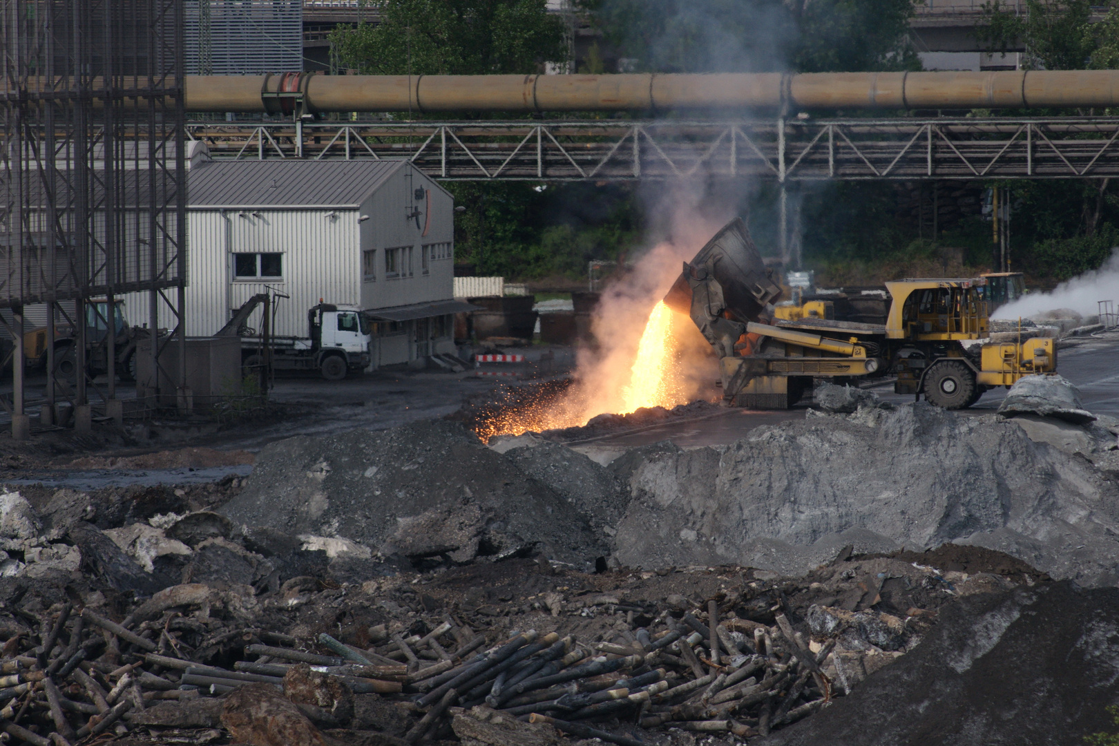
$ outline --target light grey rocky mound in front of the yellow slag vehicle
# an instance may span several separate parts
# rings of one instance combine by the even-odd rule
[[[847,544],[883,553],[955,541],[1057,579],[1119,580],[1119,487],[995,416],[924,403],[814,413],[721,450],[660,444],[619,469],[632,495],[614,538],[622,565],[791,574]]]

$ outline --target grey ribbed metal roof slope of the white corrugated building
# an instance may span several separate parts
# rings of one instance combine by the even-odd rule
[[[187,195],[191,209],[356,207],[405,162],[210,161],[190,169]]]

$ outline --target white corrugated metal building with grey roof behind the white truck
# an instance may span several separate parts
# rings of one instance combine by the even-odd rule
[[[469,308],[453,300],[453,215],[451,195],[405,160],[196,166],[187,334],[214,334],[271,289],[289,296],[278,303],[278,336],[307,336],[307,311],[322,299],[366,312],[374,367],[453,353],[453,313]],[[130,319],[147,319],[147,294],[125,301]],[[169,314],[160,325],[173,325]]]

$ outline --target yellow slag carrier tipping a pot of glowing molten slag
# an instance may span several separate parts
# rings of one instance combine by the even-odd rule
[[[814,378],[849,381],[894,374],[895,393],[923,394],[931,404],[961,409],[988,388],[1056,370],[1053,339],[985,341],[984,283],[888,282],[885,324],[830,320],[826,306],[810,315],[790,305],[781,318],[770,305],[781,287],[745,225],[734,220],[685,263],[665,302],[690,315],[715,349],[728,404],[781,409],[794,404]]]

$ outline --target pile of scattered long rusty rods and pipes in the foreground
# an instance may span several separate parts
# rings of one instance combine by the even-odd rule
[[[70,603],[26,617],[28,633],[8,640],[0,663],[3,731],[35,746],[60,746],[138,728],[159,740],[170,735],[167,728],[220,723],[235,740],[261,743],[251,737],[260,718],[245,712],[250,700],[282,701],[283,692],[293,705],[279,706],[286,731],[310,737],[318,727],[350,726],[355,695],[377,693],[411,717],[407,743],[451,737],[455,715],[485,706],[565,734],[637,745],[639,738],[596,724],[617,718],[744,738],[794,723],[831,695],[822,664],[835,641],[814,652],[783,614],[769,627],[724,617],[727,610],[714,599],[706,612],[680,620],[666,612],[653,624],[595,642],[528,630],[490,645],[487,635],[448,620],[424,635],[377,625],[368,630],[377,643],[359,648],[326,633],[307,644],[182,614],[219,604],[220,596],[204,585],[173,586],[121,623]],[[204,662],[223,650],[242,660]],[[195,702],[248,684],[224,703]],[[182,743],[204,743],[207,735]]]

